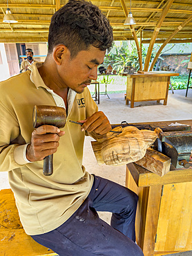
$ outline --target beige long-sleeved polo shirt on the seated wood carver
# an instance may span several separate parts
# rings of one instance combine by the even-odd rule
[[[68,94],[66,134],[53,156],[54,171],[44,176],[43,161],[26,163],[23,148],[30,143],[35,105],[59,105],[62,98],[48,91],[35,62],[30,71],[0,83],[0,170],[8,172],[19,217],[28,235],[49,232],[64,223],[88,196],[93,176],[82,166],[84,132],[69,120],[84,120],[97,111],[87,88]]]

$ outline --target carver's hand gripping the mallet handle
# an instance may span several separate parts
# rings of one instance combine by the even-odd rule
[[[31,143],[26,150],[26,158],[30,162],[43,160],[57,152],[59,137],[64,136],[65,131],[52,125],[42,125],[32,131]]]

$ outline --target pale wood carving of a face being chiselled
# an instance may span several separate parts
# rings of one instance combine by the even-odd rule
[[[155,131],[139,130],[136,127],[115,127],[105,135],[98,136],[91,132],[90,136],[97,141],[92,141],[93,152],[99,165],[126,165],[127,163],[140,160],[146,154],[158,134],[162,131],[156,128]],[[116,131],[116,133],[115,133]],[[121,133],[117,133],[121,131]]]

